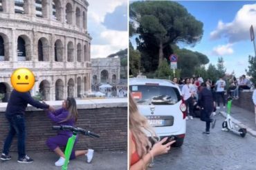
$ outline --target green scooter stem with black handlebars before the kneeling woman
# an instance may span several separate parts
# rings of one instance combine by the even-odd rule
[[[91,138],[100,138],[98,134],[93,134],[91,131],[86,131],[85,129],[82,129],[80,127],[73,127],[73,126],[67,126],[67,125],[60,125],[60,126],[53,126],[53,129],[55,130],[70,130],[73,132],[73,135],[68,138],[68,142],[66,144],[66,149],[65,149],[65,162],[64,165],[62,166],[62,170],[67,170],[68,169],[68,162],[69,158],[71,156],[71,152],[73,149],[73,146],[75,144],[75,139],[78,133],[83,134],[85,136],[90,136]]]

